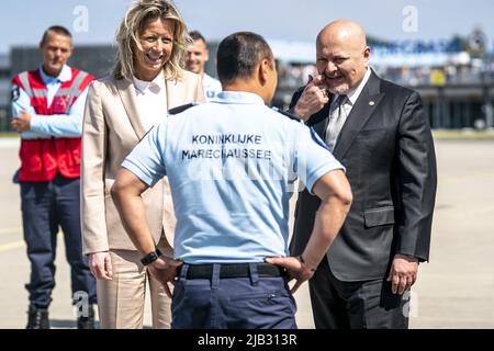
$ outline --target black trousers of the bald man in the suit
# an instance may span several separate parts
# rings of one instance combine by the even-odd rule
[[[343,282],[327,263],[321,262],[308,281],[317,329],[407,329],[409,291],[391,292],[384,279]]]

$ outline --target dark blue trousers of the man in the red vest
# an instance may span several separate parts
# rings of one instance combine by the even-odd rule
[[[83,296],[89,303],[97,302],[94,278],[82,254],[79,191],[79,179],[60,174],[49,182],[21,182],[24,240],[31,261],[31,279],[25,287],[32,306],[48,307],[52,302],[59,227],[64,231],[66,257],[70,264],[72,303]]]

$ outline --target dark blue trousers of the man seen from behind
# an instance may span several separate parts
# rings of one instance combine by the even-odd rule
[[[249,278],[187,279],[183,264],[173,290],[172,329],[296,329],[295,301],[283,276],[260,278],[250,263]]]

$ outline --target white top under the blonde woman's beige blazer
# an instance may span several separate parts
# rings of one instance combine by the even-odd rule
[[[141,122],[147,132],[168,115],[165,75],[161,71],[153,81],[134,77],[134,86]]]

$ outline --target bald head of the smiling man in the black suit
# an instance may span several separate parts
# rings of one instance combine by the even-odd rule
[[[317,70],[328,90],[347,94],[363,79],[369,66],[366,32],[351,21],[326,25],[317,35]]]

